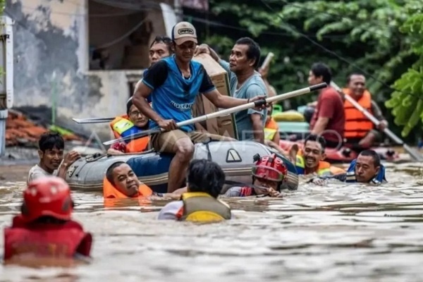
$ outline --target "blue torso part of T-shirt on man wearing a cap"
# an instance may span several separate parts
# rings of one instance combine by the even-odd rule
[[[192,118],[192,105],[200,92],[204,76],[202,64],[191,61],[191,77],[185,79],[176,65],[175,55],[161,60],[168,66],[168,77],[163,85],[153,90],[152,108],[164,119],[173,119],[177,123],[187,121]],[[149,121],[149,128],[157,127],[155,121]],[[194,125],[184,125],[180,130],[190,132],[194,130]]]

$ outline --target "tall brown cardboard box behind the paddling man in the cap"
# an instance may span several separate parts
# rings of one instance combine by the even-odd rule
[[[231,87],[229,85],[229,76],[226,73],[225,69],[219,65],[212,56],[208,54],[200,54],[193,58],[194,61],[198,61],[204,66],[204,69],[209,74],[212,82],[216,86],[217,90],[226,96],[231,96]],[[202,116],[204,114],[211,114],[219,109],[212,104],[203,94],[197,96],[195,100],[194,108],[192,115]],[[226,116],[221,116],[219,118],[213,118],[201,124],[209,133],[224,135],[228,137],[233,137],[238,139],[238,133],[235,123],[235,115],[230,114]]]

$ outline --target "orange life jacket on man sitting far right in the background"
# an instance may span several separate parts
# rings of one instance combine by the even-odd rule
[[[350,90],[344,88],[343,92],[350,95]],[[364,90],[362,97],[357,101],[360,106],[372,114],[372,95]],[[345,111],[345,138],[361,138],[373,129],[373,123],[361,111],[355,109],[355,106],[348,100],[344,102]]]

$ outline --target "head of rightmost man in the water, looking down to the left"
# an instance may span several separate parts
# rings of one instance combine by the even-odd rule
[[[371,149],[362,151],[355,162],[355,179],[360,183],[369,183],[381,169],[379,154]]]

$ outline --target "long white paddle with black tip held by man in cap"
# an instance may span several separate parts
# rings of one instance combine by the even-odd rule
[[[192,123],[200,123],[202,121],[207,121],[210,118],[219,118],[220,116],[226,116],[228,114],[233,114],[237,111],[243,111],[243,110],[246,110],[246,109],[254,108],[256,106],[262,106],[264,104],[269,104],[271,102],[275,102],[275,101],[279,101],[279,100],[283,100],[283,99],[289,99],[289,98],[300,96],[302,94],[306,94],[306,93],[309,93],[309,92],[312,92],[312,91],[320,90],[324,87],[327,87],[326,83],[320,83],[318,85],[312,85],[310,87],[305,87],[305,88],[302,88],[300,90],[295,90],[295,91],[292,91],[292,92],[280,94],[280,95],[277,95],[275,97],[269,97],[269,98],[266,98],[266,99],[257,100],[255,102],[250,102],[248,104],[244,104],[244,105],[241,105],[241,106],[235,106],[235,107],[230,108],[230,109],[224,109],[224,110],[221,110],[221,111],[216,111],[215,113],[212,113],[212,114],[206,114],[204,116],[198,116],[197,118],[191,118],[188,121],[181,121],[179,123],[176,123],[176,125],[178,126],[178,128],[180,128],[183,125],[190,125]],[[162,128],[152,128],[152,129],[149,129],[149,130],[142,131],[140,133],[135,133],[133,135],[129,135],[127,137],[106,141],[106,142],[103,142],[103,144],[104,145],[111,145],[111,144],[114,144],[116,142],[123,142],[123,141],[126,141],[126,140],[133,140],[133,139],[140,138],[140,137],[147,136],[147,135],[154,134],[154,133],[161,133],[162,131],[164,131]]]

